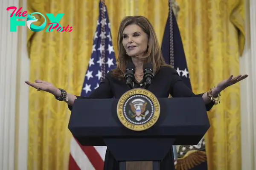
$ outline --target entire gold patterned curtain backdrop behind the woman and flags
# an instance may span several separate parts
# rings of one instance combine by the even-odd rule
[[[177,3],[193,91],[207,91],[230,74],[239,74],[238,55],[244,43],[243,34],[240,36],[244,33],[242,1],[177,0]],[[43,79],[71,94],[81,93],[99,15],[98,4],[98,0],[27,1],[29,14],[64,13],[61,26],[73,27],[71,32],[44,32],[48,25],[40,32],[28,29],[30,81]],[[162,42],[168,0],[106,0],[106,5],[115,50],[119,23],[127,15],[147,17]],[[43,22],[40,15],[35,17]],[[39,22],[36,24],[41,25]],[[239,109],[239,85],[234,85],[222,93],[221,104],[209,112],[212,125],[206,137],[209,170],[241,169]],[[69,117],[64,102],[58,102],[51,94],[29,89],[28,170],[67,170]]]

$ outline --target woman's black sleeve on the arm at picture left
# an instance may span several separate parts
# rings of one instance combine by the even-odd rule
[[[76,96],[77,99],[108,99],[113,97],[110,84],[110,72],[107,74],[106,78],[99,84],[99,87],[96,88],[88,97],[85,96]],[[67,104],[70,111],[72,111],[72,106]]]

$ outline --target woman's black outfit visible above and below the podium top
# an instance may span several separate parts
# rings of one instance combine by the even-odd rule
[[[134,82],[135,88],[143,88],[143,82]],[[110,71],[106,78],[100,83],[99,87],[96,88],[89,97],[77,96],[77,98],[117,98],[119,99],[122,94],[130,88],[125,84],[124,80],[118,80],[112,77],[112,72]],[[151,85],[148,88],[156,97],[169,97],[171,94],[172,97],[202,97],[203,94],[194,94],[182,81],[179,77],[177,71],[174,68],[162,67],[151,82]],[[205,105],[207,111],[209,111],[213,102]],[[70,111],[72,106],[68,105]],[[170,154],[173,154],[169,151],[169,154],[163,159],[160,163],[160,169],[168,170],[171,169],[172,163],[174,160]],[[119,170],[119,164],[114,159],[113,155],[107,149],[105,154],[104,161],[104,170]]]

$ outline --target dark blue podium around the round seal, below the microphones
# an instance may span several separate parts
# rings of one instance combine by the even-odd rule
[[[160,116],[143,131],[121,124],[118,100],[76,99],[68,128],[81,145],[107,146],[120,170],[125,170],[126,161],[153,161],[153,170],[160,170],[172,145],[196,145],[210,127],[201,97],[158,98]]]

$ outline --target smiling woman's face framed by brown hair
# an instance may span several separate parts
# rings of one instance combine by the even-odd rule
[[[147,34],[136,24],[125,27],[122,44],[128,56],[143,56],[148,46]]]

